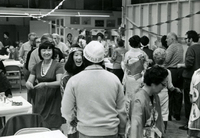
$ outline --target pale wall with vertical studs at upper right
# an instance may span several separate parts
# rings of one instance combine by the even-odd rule
[[[154,44],[154,40],[157,37],[166,35],[169,32],[176,33],[178,37],[184,37],[185,33],[190,29],[194,29],[200,33],[200,14],[181,20],[170,21],[200,11],[200,0],[154,2],[125,5],[125,7],[128,7],[125,14],[126,17],[138,27],[169,21],[161,25],[145,27],[143,30],[134,27],[133,34],[150,36],[152,40],[151,44]],[[127,29],[132,26],[128,20],[126,20],[126,25]],[[145,30],[149,32],[147,33]],[[157,35],[153,35],[150,32]],[[127,33],[126,40],[130,37],[129,35],[133,34],[130,32]]]

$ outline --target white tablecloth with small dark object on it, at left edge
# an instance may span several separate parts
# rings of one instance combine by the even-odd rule
[[[12,102],[22,102],[21,106],[12,106]],[[0,101],[0,117],[5,116],[6,120],[18,114],[32,113],[32,105],[21,96],[13,96],[6,99],[6,102]]]

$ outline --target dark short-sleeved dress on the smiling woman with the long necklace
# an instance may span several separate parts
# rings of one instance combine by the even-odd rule
[[[53,61],[47,74],[41,76],[41,64],[42,61],[36,64],[31,72],[31,74],[36,76],[39,83],[56,81],[56,74],[63,74],[62,64]],[[62,124],[60,87],[42,87],[34,89],[34,91],[33,112],[43,116],[46,127],[59,128]]]

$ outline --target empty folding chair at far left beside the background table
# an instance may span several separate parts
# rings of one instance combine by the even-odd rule
[[[7,79],[11,82],[16,80],[16,83],[19,85],[20,93],[22,91],[22,75],[21,69],[17,65],[8,65],[5,67]],[[18,83],[19,82],[19,83]]]

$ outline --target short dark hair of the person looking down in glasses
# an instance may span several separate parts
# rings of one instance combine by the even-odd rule
[[[150,69],[147,69],[144,74],[144,83],[147,86],[151,84],[159,85],[167,77],[168,72],[165,68],[160,67],[159,65],[154,65]]]

